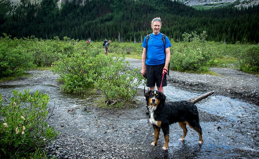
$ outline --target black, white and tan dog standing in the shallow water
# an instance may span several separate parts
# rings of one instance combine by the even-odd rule
[[[149,90],[144,96],[149,110],[149,122],[154,127],[155,133],[155,140],[151,143],[152,146],[157,145],[160,129],[162,129],[165,140],[162,149],[168,150],[169,125],[176,122],[183,129],[183,136],[179,140],[184,140],[187,133],[186,124],[188,124],[198,133],[198,143],[203,143],[199,113],[194,103],[188,101],[165,102],[166,96],[158,90]]]

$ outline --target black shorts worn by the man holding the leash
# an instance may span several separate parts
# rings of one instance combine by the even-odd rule
[[[146,75],[147,75],[147,87],[160,87],[162,77],[163,77],[163,68],[165,63],[160,65],[146,65]],[[166,75],[164,74],[162,87],[167,86],[167,79]]]

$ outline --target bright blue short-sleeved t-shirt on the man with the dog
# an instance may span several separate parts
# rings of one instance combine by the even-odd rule
[[[142,47],[146,47],[146,38],[144,38]],[[165,37],[165,48],[171,47],[169,38]],[[165,62],[165,48],[163,43],[162,34],[158,35],[150,34],[148,39],[148,55],[146,58],[146,65],[160,65]]]

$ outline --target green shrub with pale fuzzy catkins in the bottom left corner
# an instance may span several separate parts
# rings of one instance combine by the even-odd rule
[[[58,135],[47,126],[49,96],[29,90],[13,90],[9,105],[3,105],[0,94],[0,154],[1,158],[20,158],[37,152],[37,148]],[[38,150],[39,151],[39,150]]]

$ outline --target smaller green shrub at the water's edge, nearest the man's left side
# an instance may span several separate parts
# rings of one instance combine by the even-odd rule
[[[101,90],[105,97],[106,105],[123,107],[131,103],[137,92],[137,87],[142,84],[139,69],[129,69],[125,58],[106,58],[108,66],[101,69],[101,75],[95,81],[95,88]]]

